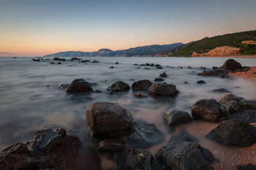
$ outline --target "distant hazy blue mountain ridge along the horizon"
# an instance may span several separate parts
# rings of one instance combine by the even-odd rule
[[[58,52],[44,57],[152,57],[156,56],[157,53],[166,52],[172,50],[177,46],[183,45],[182,43],[173,43],[170,45],[148,45],[148,46],[138,46],[135,48],[129,48],[127,50],[109,50],[108,48],[102,48],[97,52]]]

